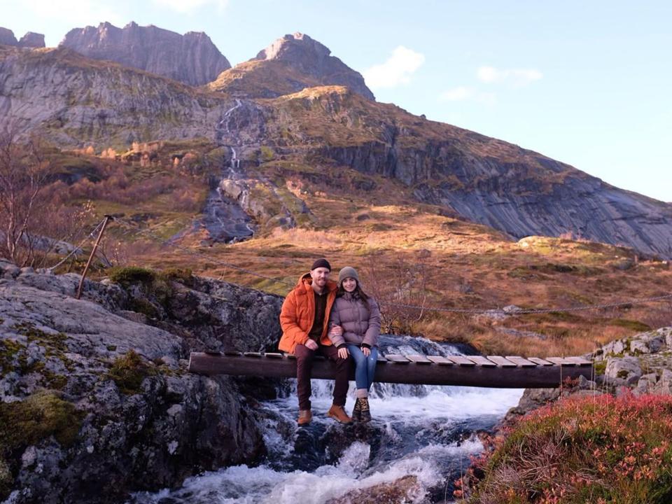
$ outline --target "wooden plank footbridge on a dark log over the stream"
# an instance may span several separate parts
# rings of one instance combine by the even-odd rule
[[[353,366],[354,368],[354,366]],[[296,377],[296,358],[283,353],[193,352],[189,370],[198,374]],[[379,354],[375,381],[398,384],[465,385],[496,388],[554,388],[580,376],[591,379],[593,365],[581,357],[422,356]],[[332,363],[321,356],[312,377],[333,379]],[[350,379],[354,379],[351,370]]]

